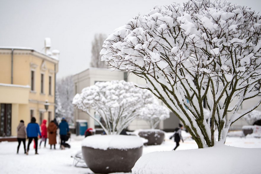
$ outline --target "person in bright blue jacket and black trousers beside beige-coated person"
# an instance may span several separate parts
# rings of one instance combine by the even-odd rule
[[[31,118],[31,123],[29,123],[27,125],[26,132],[27,132],[27,137],[29,139],[28,145],[27,145],[26,155],[28,155],[29,147],[30,147],[30,144],[31,144],[33,139],[35,141],[35,154],[38,155],[38,153],[37,153],[38,134],[41,136],[41,132],[40,132],[40,127],[36,123],[36,119],[34,117]]]

